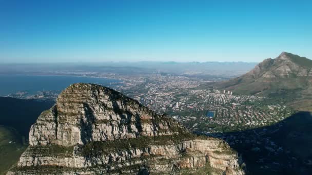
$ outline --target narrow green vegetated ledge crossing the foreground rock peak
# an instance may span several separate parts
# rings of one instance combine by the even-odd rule
[[[75,154],[81,156],[96,156],[106,155],[113,150],[125,150],[128,148],[144,148],[149,145],[166,145],[178,144],[184,140],[194,139],[196,136],[188,132],[183,132],[177,135],[157,136],[157,137],[139,137],[132,139],[121,139],[114,141],[97,141],[89,142],[85,145],[79,145],[75,149]],[[28,154],[40,154],[42,156],[58,156],[58,157],[71,157],[74,151],[74,146],[61,146],[61,145],[47,145],[47,146],[29,146],[27,149]]]

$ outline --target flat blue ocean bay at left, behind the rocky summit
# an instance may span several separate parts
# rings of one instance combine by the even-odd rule
[[[35,93],[38,91],[61,91],[72,83],[85,82],[110,86],[120,80],[79,76],[45,76],[45,75],[0,75],[0,96],[19,91]]]

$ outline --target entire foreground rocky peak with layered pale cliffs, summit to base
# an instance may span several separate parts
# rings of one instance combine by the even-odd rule
[[[244,174],[224,141],[100,85],[77,83],[31,126],[8,174]]]

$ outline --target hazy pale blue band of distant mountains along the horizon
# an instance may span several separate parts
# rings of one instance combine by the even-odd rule
[[[235,77],[255,67],[255,62],[99,62],[99,63],[28,63],[0,64],[0,74],[54,75],[74,73],[190,73],[227,75]],[[74,74],[74,75],[76,75]]]

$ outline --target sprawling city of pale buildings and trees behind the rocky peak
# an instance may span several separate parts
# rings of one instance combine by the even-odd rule
[[[107,84],[110,88],[138,100],[159,114],[177,119],[193,132],[213,136],[277,123],[294,110],[267,97],[232,94],[230,91],[206,88],[203,84],[220,78],[188,77],[179,74],[145,74],[136,76],[102,75],[119,79],[121,83]],[[61,91],[26,91],[8,97],[55,100]],[[212,112],[212,116],[207,116]]]

